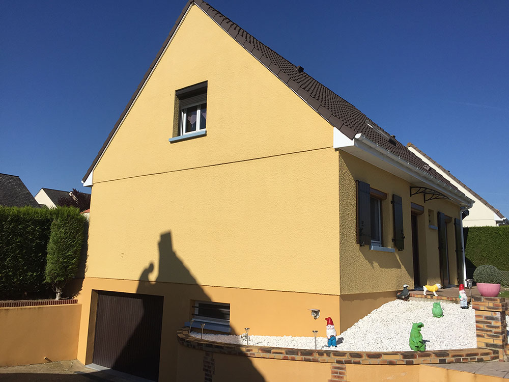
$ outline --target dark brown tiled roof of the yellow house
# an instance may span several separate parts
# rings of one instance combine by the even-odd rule
[[[209,4],[202,0],[189,1],[180,14],[177,22],[164,41],[161,49],[157,53],[156,58],[152,61],[148,71],[145,73],[144,78],[139,83],[138,88],[134,92],[131,100],[127,104],[124,112],[118,119],[114,128],[108,135],[95,157],[92,165],[88,169],[86,175],[83,177],[83,182],[88,178],[96,163],[99,161],[102,153],[106,149],[109,141],[114,136],[123,118],[129,111],[132,103],[134,102],[139,91],[142,89],[145,81],[154,69],[157,61],[161,57],[166,45],[169,43],[174,33],[177,31],[178,25],[184,18],[188,8],[195,4],[200,7],[209,17],[214,20],[225,32],[234,38],[240,45],[242,45],[248,52],[256,57],[264,66],[273,72],[281,81],[288,87],[294,90],[304,101],[313,107],[323,118],[325,118],[332,126],[343,132],[349,139],[353,139],[357,133],[365,135],[368,139],[383,147],[394,155],[404,159],[412,166],[428,173],[433,178],[447,184],[456,189],[457,187],[451,184],[447,179],[441,176],[433,168],[429,168],[424,161],[417,155],[408,150],[407,147],[398,142],[394,135],[390,135],[380,126],[378,126],[371,119],[367,118],[358,108],[338,96],[330,89],[320,84],[315,78],[303,71],[300,66],[297,67],[291,62],[281,57],[268,46],[262,44],[259,40],[251,36],[245,30],[240,28],[239,25],[234,23],[228,17],[222,15],[219,11],[212,8]]]

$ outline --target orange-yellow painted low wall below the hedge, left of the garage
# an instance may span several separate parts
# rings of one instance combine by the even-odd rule
[[[0,366],[74,360],[81,305],[0,308]]]

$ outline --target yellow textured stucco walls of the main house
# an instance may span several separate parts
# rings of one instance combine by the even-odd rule
[[[200,49],[189,50],[197,41]],[[204,81],[207,134],[169,143],[176,91]],[[234,333],[248,326],[252,334],[308,336],[323,330],[323,317],[339,333],[403,284],[412,287],[410,202],[423,204],[422,196],[334,149],[333,129],[191,6],[93,171],[78,359],[93,361],[96,291],[164,296],[159,376],[174,380],[175,330],[194,301],[229,303]],[[356,180],[403,198],[405,250],[359,247]],[[383,201],[389,248],[391,208]],[[435,200],[418,217],[421,280],[435,283],[428,209],[454,218],[460,208]],[[448,236],[452,262],[453,229]],[[310,308],[321,310],[319,320]]]

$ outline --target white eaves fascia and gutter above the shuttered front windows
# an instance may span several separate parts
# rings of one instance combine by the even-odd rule
[[[338,133],[342,134],[340,131],[338,131]],[[336,142],[338,144],[337,146],[335,145]],[[395,176],[403,178],[416,186],[436,189],[451,200],[459,203],[461,206],[467,208],[472,207],[473,201],[459,190],[456,190],[435,179],[426,172],[417,169],[406,160],[392,154],[362,134],[355,135],[353,140],[349,140],[346,137],[345,139],[338,137],[337,141],[334,142],[334,148],[346,151],[349,154],[371,163],[372,165]]]

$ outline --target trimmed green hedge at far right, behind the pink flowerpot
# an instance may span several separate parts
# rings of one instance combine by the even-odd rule
[[[467,271],[483,264],[509,271],[509,226],[464,228]]]

